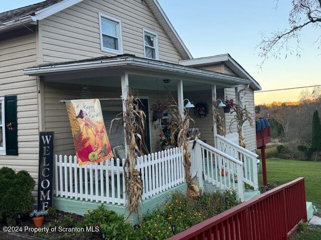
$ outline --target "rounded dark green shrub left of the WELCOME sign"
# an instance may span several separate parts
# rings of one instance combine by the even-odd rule
[[[15,171],[8,167],[0,169],[0,219],[16,224],[18,213],[26,214],[35,202],[31,194],[35,180],[27,171]]]

